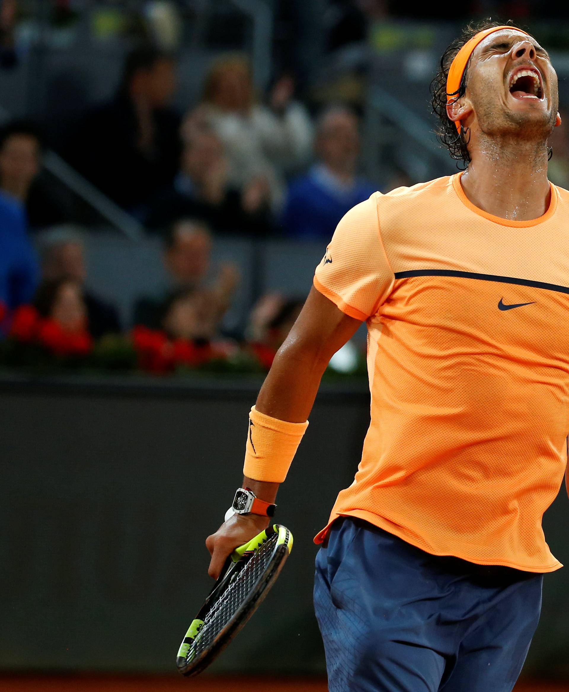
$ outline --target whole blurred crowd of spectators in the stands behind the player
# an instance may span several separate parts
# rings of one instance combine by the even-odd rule
[[[69,10],[72,4],[58,7]],[[0,69],[17,61],[16,8],[17,0],[0,0]],[[369,23],[384,19],[390,8],[381,0],[330,1],[326,50],[364,40]],[[413,182],[402,172],[391,180],[367,179],[361,113],[333,97],[309,110],[298,97],[301,70],[277,70],[259,93],[248,56],[221,55],[203,75],[200,97],[179,113],[173,106],[179,69],[175,53],[140,44],[124,60],[112,98],[88,107],[57,143],[58,153],[86,181],[161,239],[167,287],[138,296],[128,318],[89,288],[88,231],[78,224],[76,202],[45,174],[46,142],[38,124],[4,123],[0,336],[30,340],[32,332],[34,338],[41,333],[53,344],[57,331],[57,343],[82,335],[86,348],[109,335],[132,334],[134,327],[144,347],[151,334],[152,343],[213,344],[217,354],[244,347],[266,367],[301,301],[256,295],[247,323],[227,331],[224,316],[243,277],[234,264],[212,266],[215,239],[317,241],[324,251],[355,204],[375,190]],[[565,132],[558,128],[552,138],[550,174],[568,187]]]

